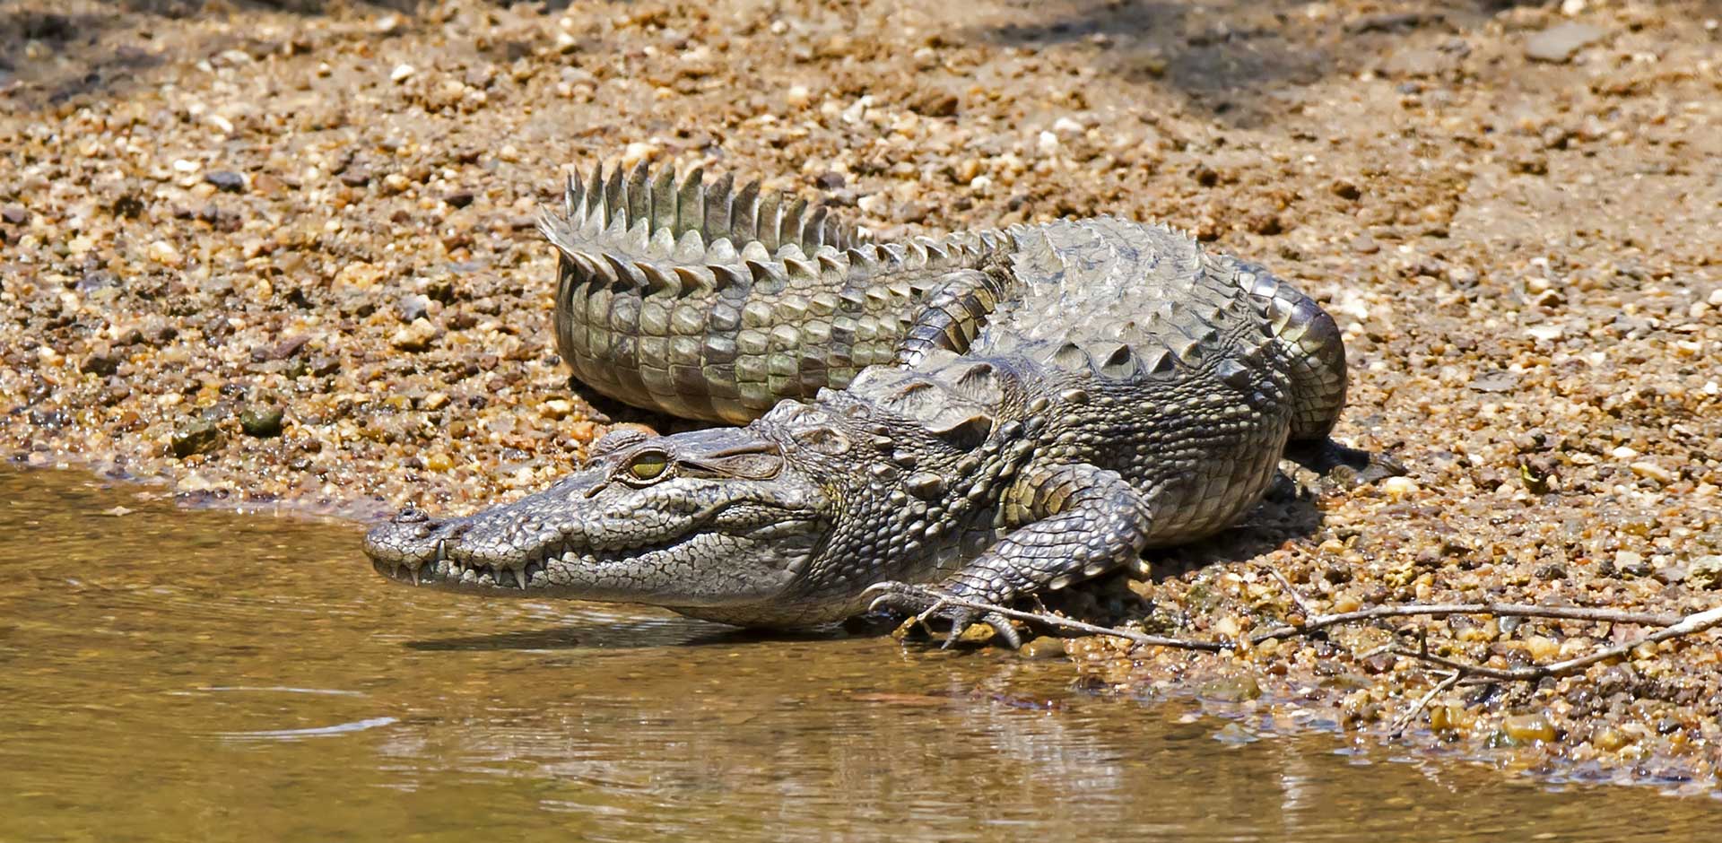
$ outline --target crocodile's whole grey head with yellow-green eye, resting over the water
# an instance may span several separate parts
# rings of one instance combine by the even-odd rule
[[[460,592],[644,602],[725,616],[806,569],[832,489],[770,423],[601,439],[553,487],[467,518],[408,508],[365,537],[379,573]]]

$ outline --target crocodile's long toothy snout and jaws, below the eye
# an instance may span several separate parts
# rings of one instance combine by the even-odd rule
[[[453,592],[746,606],[796,581],[821,509],[792,478],[616,489],[585,470],[468,518],[408,508],[370,530],[365,554],[389,580]]]

